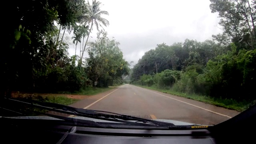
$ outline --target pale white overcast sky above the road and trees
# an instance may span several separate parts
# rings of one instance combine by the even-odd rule
[[[101,10],[110,26],[104,28],[109,37],[120,42],[124,58],[136,64],[143,54],[165,42],[183,42],[186,38],[198,41],[211,39],[221,32],[218,14],[212,14],[210,0],[100,0]],[[92,38],[96,38],[96,28]],[[80,44],[77,47],[79,53]],[[75,46],[70,44],[70,56]],[[86,55],[88,56],[88,55]]]

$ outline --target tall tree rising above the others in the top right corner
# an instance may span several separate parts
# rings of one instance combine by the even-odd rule
[[[256,13],[248,0],[210,0],[212,13],[218,12],[221,18],[219,24],[223,27],[223,34],[214,36],[216,40],[231,42],[242,47],[255,48]],[[252,3],[252,5],[254,5]]]

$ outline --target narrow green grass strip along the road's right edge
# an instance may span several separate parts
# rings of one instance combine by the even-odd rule
[[[166,94],[173,94],[175,96],[180,96],[180,97],[184,97],[184,98],[188,98],[188,99],[192,99],[192,100],[197,100],[199,102],[206,102],[208,104],[227,108],[230,110],[236,110],[238,112],[242,112],[242,111],[246,110],[248,108],[248,105],[250,105],[250,103],[251,103],[251,102],[246,102],[246,101],[238,102],[238,101],[232,100],[232,99],[212,98],[210,96],[202,96],[202,95],[198,95],[198,94],[186,94],[186,93],[182,93],[182,92],[176,92],[176,91],[173,91],[170,89],[160,89],[160,88],[156,88],[156,87],[152,87],[152,86],[141,86],[141,85],[135,85],[135,86],[139,86],[142,88],[148,88],[150,90],[157,90],[159,92],[164,92]]]

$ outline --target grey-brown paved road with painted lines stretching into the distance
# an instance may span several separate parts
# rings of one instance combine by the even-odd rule
[[[70,106],[104,110],[141,118],[170,119],[206,125],[218,124],[239,114],[234,110],[130,84],[124,84],[119,88],[96,96],[90,96]]]

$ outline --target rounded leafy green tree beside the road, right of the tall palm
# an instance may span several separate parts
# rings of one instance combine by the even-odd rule
[[[88,74],[95,86],[108,86],[108,80],[128,74],[128,62],[118,47],[119,42],[107,37],[107,32],[98,32],[97,40],[90,42]]]

